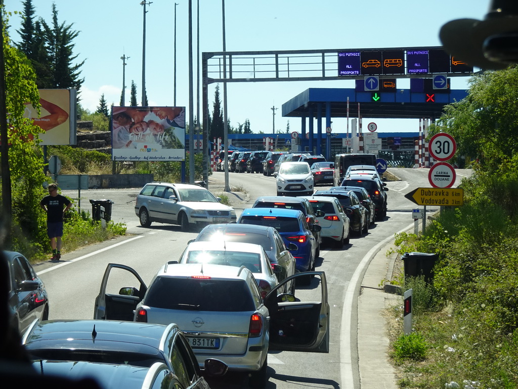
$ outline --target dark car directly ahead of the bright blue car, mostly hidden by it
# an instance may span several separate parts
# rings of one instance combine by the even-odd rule
[[[261,196],[255,200],[252,208],[283,208],[287,210],[298,210],[304,214],[306,217],[306,222],[308,223],[310,229],[313,225],[320,225],[317,217],[324,216],[322,211],[321,214],[315,215],[313,211],[313,207],[309,203],[308,199],[303,199],[300,197],[290,197],[290,196]],[[312,229],[311,229],[312,230]],[[313,230],[312,230],[313,231]],[[316,241],[316,256],[320,256],[320,230],[313,231],[313,237]]]

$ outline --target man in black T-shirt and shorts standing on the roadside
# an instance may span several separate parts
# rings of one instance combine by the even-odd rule
[[[47,212],[47,234],[50,238],[50,246],[52,247],[51,260],[59,260],[61,258],[61,237],[63,236],[63,216],[67,212],[72,203],[62,195],[57,193],[57,185],[49,185],[49,195],[45,196],[39,203],[41,208]],[[65,209],[63,210],[63,206]]]

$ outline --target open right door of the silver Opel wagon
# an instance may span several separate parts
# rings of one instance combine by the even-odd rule
[[[311,277],[308,287],[296,290],[296,297],[279,294],[284,283]],[[329,303],[323,271],[297,273],[287,277],[264,298],[270,315],[269,350],[329,352]]]

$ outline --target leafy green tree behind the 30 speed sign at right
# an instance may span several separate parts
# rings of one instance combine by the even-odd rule
[[[467,98],[446,106],[445,114],[430,130],[455,138],[457,162],[459,156],[476,159],[482,169],[496,172],[518,150],[518,67],[484,72],[469,82]]]

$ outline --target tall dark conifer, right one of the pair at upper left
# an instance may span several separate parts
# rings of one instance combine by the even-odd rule
[[[46,44],[48,46],[50,68],[52,70],[52,81],[54,88],[74,88],[79,90],[84,78],[79,78],[79,68],[84,61],[73,64],[78,55],[73,55],[73,40],[79,35],[78,31],[72,30],[73,24],[65,25],[57,20],[56,5],[52,4],[52,25],[49,26],[45,20],[40,18],[43,26]]]

